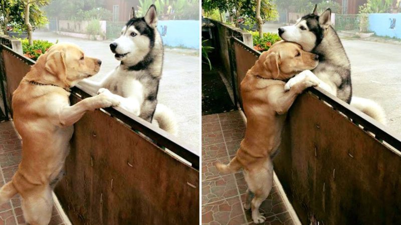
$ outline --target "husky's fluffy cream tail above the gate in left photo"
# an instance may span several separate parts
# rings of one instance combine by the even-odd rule
[[[174,112],[170,108],[164,104],[158,103],[153,118],[157,120],[161,129],[173,135],[177,134],[177,121]]]

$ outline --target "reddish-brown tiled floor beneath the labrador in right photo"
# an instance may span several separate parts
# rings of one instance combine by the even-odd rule
[[[234,157],[245,126],[239,111],[202,116],[202,224],[253,224],[251,210],[242,207],[247,189],[242,171],[221,175],[215,167]],[[265,224],[293,224],[276,184],[260,210]]]

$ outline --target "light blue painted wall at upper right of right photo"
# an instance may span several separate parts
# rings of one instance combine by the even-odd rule
[[[378,36],[401,38],[401,13],[369,14],[369,30]]]

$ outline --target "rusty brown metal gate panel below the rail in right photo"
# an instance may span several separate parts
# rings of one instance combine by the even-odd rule
[[[311,93],[288,115],[275,171],[304,224],[401,221],[401,153]],[[323,222],[323,223],[322,223]]]

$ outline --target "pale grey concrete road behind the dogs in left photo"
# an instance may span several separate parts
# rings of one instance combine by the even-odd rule
[[[91,79],[98,80],[115,68],[119,61],[110,51],[110,40],[89,40],[61,36],[52,32],[34,32],[34,39],[51,42],[72,42],[78,44],[88,56],[102,60],[98,74]],[[163,74],[160,80],[158,101],[170,107],[178,121],[178,137],[199,149],[200,135],[200,67],[198,50],[164,50]]]

